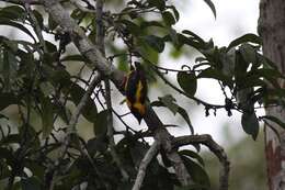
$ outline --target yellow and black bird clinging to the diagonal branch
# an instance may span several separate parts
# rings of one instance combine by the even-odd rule
[[[135,68],[130,66],[125,82],[126,102],[130,112],[141,122],[146,113],[147,80],[140,63],[135,62]]]

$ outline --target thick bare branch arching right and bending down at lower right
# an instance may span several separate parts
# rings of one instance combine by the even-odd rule
[[[209,148],[210,152],[213,152],[217,158],[219,159],[221,164],[220,168],[220,176],[219,176],[219,190],[227,190],[228,183],[229,183],[229,160],[228,157],[223,149],[221,146],[219,146],[210,135],[187,135],[187,136],[180,136],[175,137],[172,141],[173,148],[178,148],[180,146],[190,145],[190,144],[203,144]]]

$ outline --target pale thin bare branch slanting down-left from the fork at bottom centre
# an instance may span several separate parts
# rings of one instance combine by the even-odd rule
[[[140,187],[144,182],[145,176],[146,176],[147,167],[150,164],[150,161],[153,159],[153,157],[158,154],[159,148],[160,148],[160,143],[158,141],[155,141],[155,143],[151,145],[151,147],[148,149],[145,157],[140,161],[136,181],[135,181],[135,185],[133,186],[132,190],[140,189]]]

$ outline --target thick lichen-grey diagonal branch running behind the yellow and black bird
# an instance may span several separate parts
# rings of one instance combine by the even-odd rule
[[[53,16],[53,20],[57,22],[65,32],[68,32],[72,42],[79,49],[79,52],[87,57],[92,65],[91,68],[98,69],[104,77],[109,77],[121,92],[124,92],[124,72],[116,69],[99,51],[98,46],[93,45],[86,36],[83,30],[77,25],[77,23],[70,18],[68,12],[56,0],[41,0],[46,8],[46,11]],[[163,127],[162,122],[159,120],[156,112],[148,107],[145,121],[155,134],[155,138],[161,141],[162,148],[166,149],[167,155],[173,164],[178,179],[183,186],[187,186],[191,182],[191,177],[187,170],[178,155],[175,149],[171,149],[169,146],[172,136]]]

